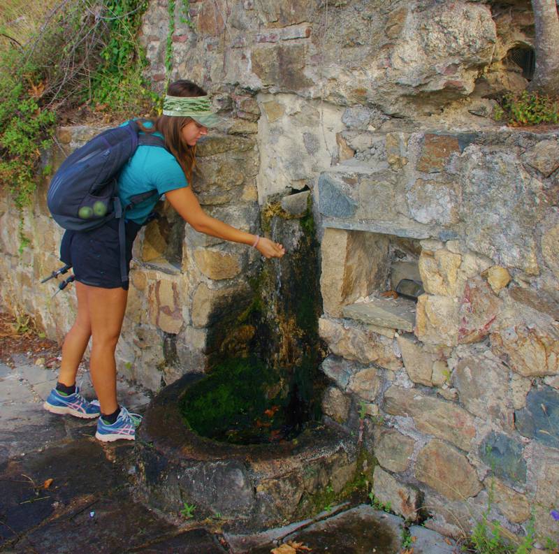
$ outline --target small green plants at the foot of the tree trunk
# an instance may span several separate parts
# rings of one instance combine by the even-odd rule
[[[536,92],[505,94],[493,117],[518,127],[559,123],[559,99]]]

